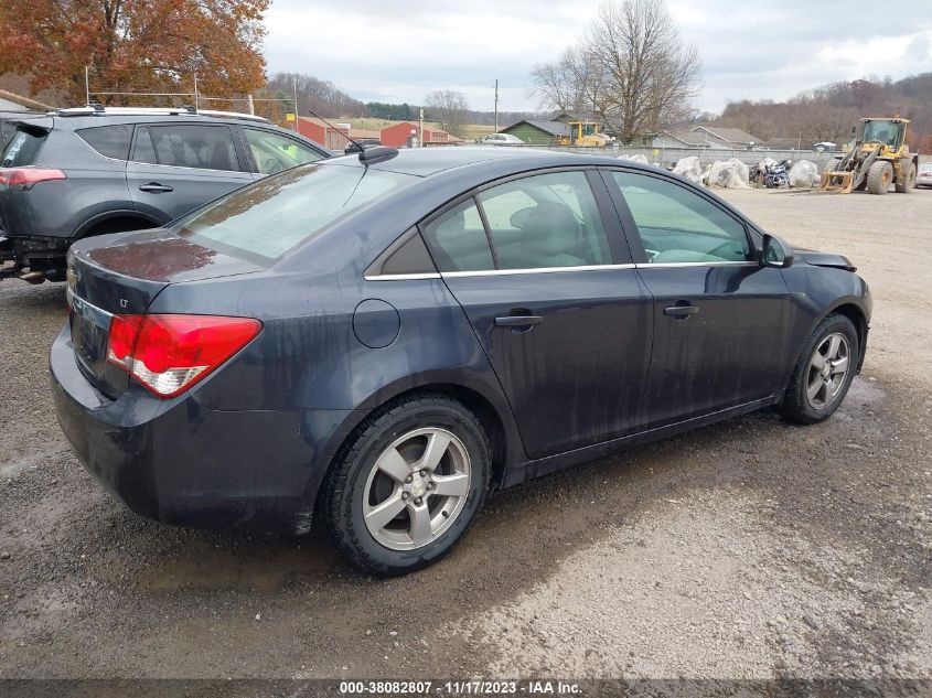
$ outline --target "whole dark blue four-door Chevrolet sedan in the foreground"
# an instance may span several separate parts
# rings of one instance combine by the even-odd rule
[[[68,258],[58,419],[143,516],[307,531],[397,574],[488,493],[778,406],[827,418],[871,301],[630,161],[368,149]]]

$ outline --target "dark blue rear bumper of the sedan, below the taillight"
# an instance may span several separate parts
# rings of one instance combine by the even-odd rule
[[[78,368],[65,325],[50,356],[58,423],[82,464],[142,516],[199,528],[304,533],[353,412],[217,411],[132,386],[110,400]]]

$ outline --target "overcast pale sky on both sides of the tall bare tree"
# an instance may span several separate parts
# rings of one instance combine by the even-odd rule
[[[269,73],[329,79],[353,97],[420,104],[459,89],[473,109],[536,109],[529,74],[591,21],[599,0],[274,0]],[[785,99],[868,75],[932,71],[932,0],[667,0],[703,58],[696,106]]]

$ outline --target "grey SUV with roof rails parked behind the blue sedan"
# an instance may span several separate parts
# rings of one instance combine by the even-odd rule
[[[92,235],[158,227],[257,179],[331,153],[260,117],[82,107],[31,116],[0,157],[0,269],[63,281]]]

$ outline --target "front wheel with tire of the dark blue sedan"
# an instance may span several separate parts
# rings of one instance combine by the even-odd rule
[[[810,335],[780,405],[801,425],[827,419],[845,399],[857,373],[860,345],[854,323],[832,313]]]

